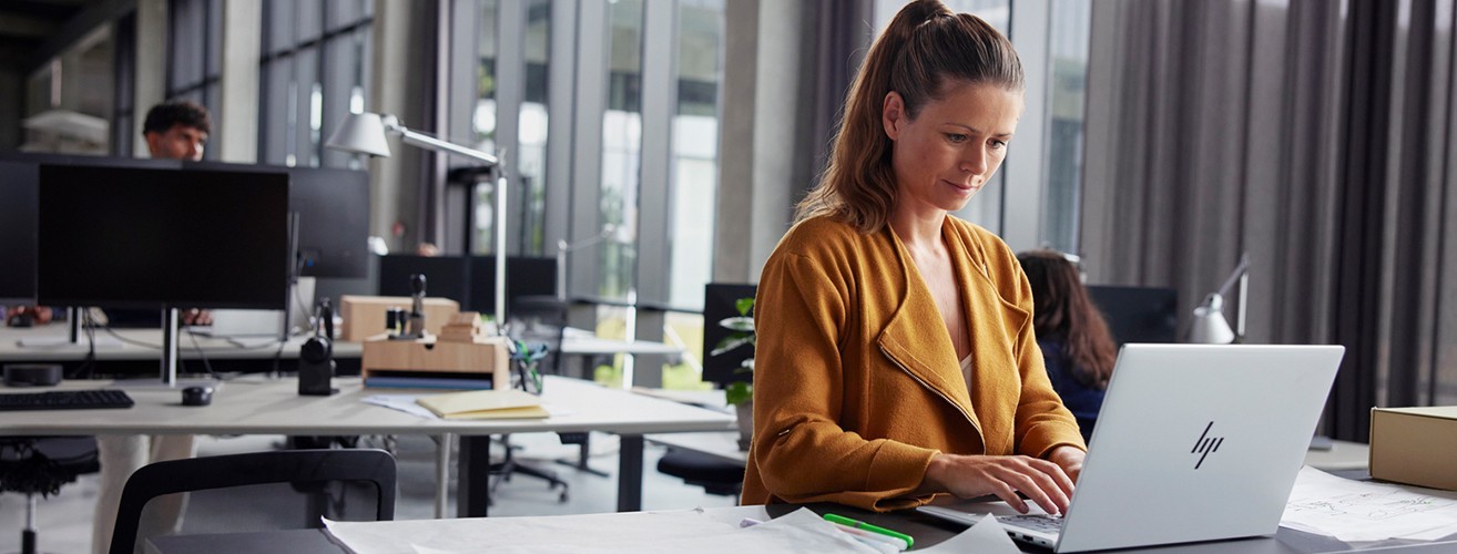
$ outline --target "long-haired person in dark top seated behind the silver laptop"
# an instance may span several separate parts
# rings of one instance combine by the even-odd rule
[[[1059,252],[1033,250],[1017,254],[1032,284],[1032,326],[1052,378],[1052,388],[1078,419],[1083,439],[1093,436],[1103,393],[1113,375],[1118,345],[1083,286],[1078,268]]]

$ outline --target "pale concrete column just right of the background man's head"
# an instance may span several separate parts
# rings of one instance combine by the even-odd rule
[[[258,161],[258,60],[262,51],[264,3],[223,3],[223,73],[217,89],[221,105],[213,111],[213,148],[220,160]],[[140,38],[138,38],[140,42]]]

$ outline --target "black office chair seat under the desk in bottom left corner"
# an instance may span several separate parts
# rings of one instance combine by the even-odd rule
[[[0,438],[0,491],[23,493],[25,528],[20,553],[35,554],[35,494],[51,496],[77,475],[101,471],[93,436]]]

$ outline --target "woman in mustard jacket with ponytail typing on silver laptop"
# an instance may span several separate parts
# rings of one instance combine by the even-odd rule
[[[934,494],[1068,506],[1085,446],[1048,382],[1017,259],[950,217],[1021,115],[1005,36],[914,1],[871,47],[820,186],[765,263],[745,503]]]

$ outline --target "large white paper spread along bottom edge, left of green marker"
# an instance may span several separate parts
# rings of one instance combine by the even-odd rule
[[[325,521],[332,539],[376,553],[876,553],[809,509],[740,529],[704,510],[392,522]]]

